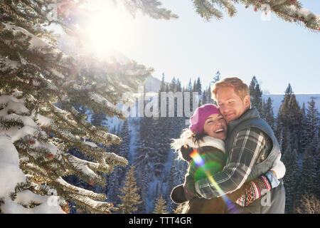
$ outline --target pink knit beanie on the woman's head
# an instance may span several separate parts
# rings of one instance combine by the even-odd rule
[[[202,133],[206,119],[212,114],[220,114],[220,110],[213,104],[206,104],[198,107],[190,118],[189,129],[195,133]]]

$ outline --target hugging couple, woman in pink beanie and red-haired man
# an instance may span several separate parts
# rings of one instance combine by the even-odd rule
[[[284,164],[270,126],[250,107],[239,78],[213,86],[213,104],[197,108],[189,128],[171,143],[189,163],[171,199],[183,213],[284,213]]]

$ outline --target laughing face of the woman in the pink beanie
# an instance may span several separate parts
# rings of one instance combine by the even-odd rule
[[[213,138],[225,140],[227,136],[227,123],[225,123],[222,115],[212,114],[206,119],[203,131]]]

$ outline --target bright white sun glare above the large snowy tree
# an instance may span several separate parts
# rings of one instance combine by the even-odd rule
[[[114,49],[125,50],[133,46],[134,18],[122,6],[112,1],[95,0],[84,6],[92,14],[85,19],[85,49],[96,56],[105,56]]]

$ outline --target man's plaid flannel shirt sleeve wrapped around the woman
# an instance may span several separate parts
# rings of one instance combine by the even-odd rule
[[[257,128],[241,130],[233,140],[227,163],[221,172],[198,180],[196,192],[211,199],[238,190],[247,180],[257,157],[268,149],[267,135]]]

